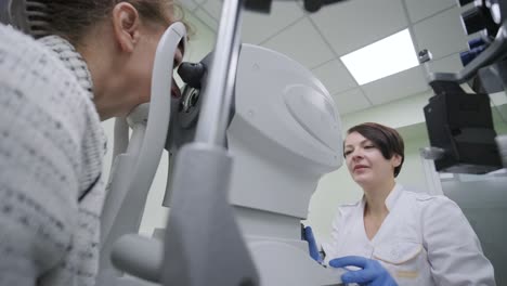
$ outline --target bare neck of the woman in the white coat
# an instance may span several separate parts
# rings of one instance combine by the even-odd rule
[[[365,213],[374,217],[385,217],[389,213],[386,206],[386,198],[389,196],[391,191],[394,188],[394,180],[387,180],[381,183],[377,183],[368,186],[363,186],[364,196],[366,199]]]

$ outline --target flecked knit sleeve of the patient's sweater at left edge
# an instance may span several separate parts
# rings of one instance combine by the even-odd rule
[[[87,115],[54,56],[1,25],[0,39],[0,286],[31,286],[72,248]]]

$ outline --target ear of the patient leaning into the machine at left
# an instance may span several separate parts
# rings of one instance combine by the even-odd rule
[[[132,52],[139,41],[141,18],[138,10],[127,2],[113,9],[113,34],[121,51]]]

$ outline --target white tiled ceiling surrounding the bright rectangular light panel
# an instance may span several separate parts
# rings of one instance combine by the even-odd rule
[[[217,31],[222,0],[180,0],[185,13]],[[326,86],[341,114],[353,113],[429,91],[417,66],[359,86],[340,56],[408,28],[415,50],[433,55],[432,72],[457,72],[467,37],[455,0],[348,0],[316,13],[302,1],[274,0],[271,13],[246,12],[243,42],[260,44],[307,66]]]

